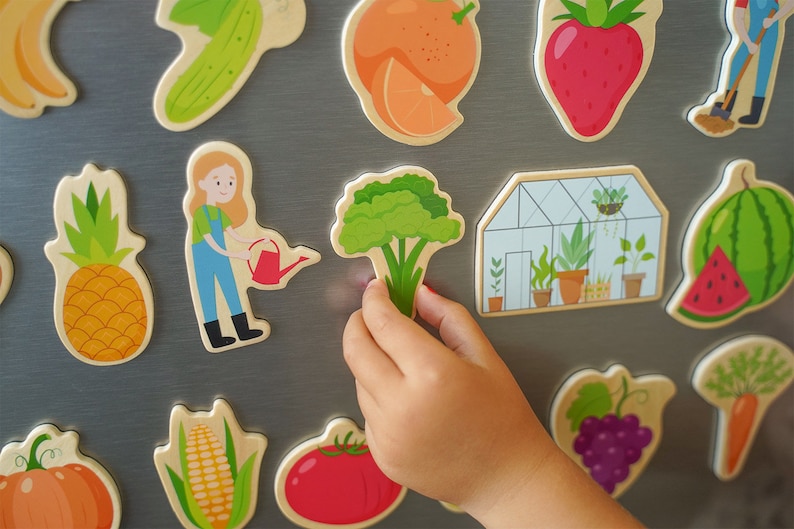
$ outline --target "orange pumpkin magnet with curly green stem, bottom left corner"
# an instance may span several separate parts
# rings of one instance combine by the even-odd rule
[[[0,451],[0,513],[3,527],[115,529],[121,499],[108,471],[80,452],[77,432],[41,424]]]

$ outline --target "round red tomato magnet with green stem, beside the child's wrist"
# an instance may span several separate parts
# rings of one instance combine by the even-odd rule
[[[307,529],[369,527],[391,514],[407,490],[381,472],[364,432],[345,417],[290,450],[276,471],[281,512]]]

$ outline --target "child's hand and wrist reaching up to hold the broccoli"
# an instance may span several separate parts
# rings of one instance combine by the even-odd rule
[[[444,343],[402,315],[380,280],[343,338],[367,444],[389,477],[486,525],[634,522],[557,448],[464,307],[424,286],[416,307]]]

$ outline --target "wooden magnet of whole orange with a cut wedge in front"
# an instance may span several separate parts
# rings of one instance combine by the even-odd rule
[[[458,104],[480,65],[479,0],[361,0],[342,39],[345,74],[387,137],[437,143],[463,123]]]

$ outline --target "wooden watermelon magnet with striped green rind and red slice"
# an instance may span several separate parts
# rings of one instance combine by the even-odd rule
[[[720,327],[769,305],[794,278],[794,195],[758,180],[755,164],[728,164],[684,238],[684,279],[667,313],[690,327]]]

